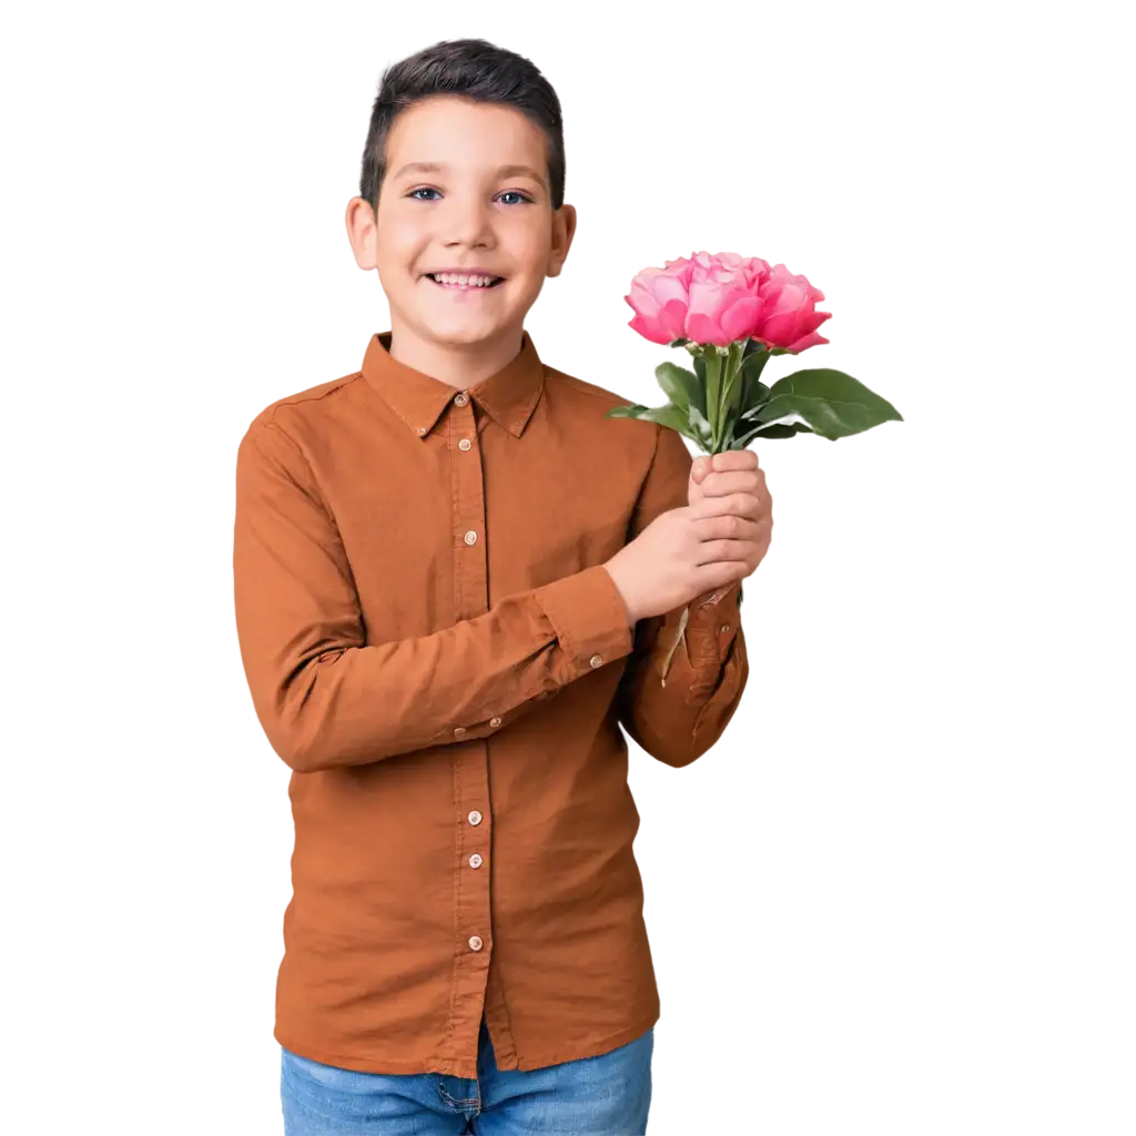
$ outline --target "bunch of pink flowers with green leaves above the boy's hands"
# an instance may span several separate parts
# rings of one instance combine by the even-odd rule
[[[609,418],[646,418],[683,434],[694,454],[783,438],[834,438],[894,411],[832,367],[795,357],[826,342],[821,289],[751,250],[703,249],[632,270],[624,326],[666,345],[651,367],[650,401]]]

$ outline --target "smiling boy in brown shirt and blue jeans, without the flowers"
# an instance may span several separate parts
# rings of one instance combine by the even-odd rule
[[[236,448],[235,650],[294,835],[278,1131],[633,1136],[628,751],[696,755],[737,698],[760,457],[692,470],[545,373],[525,319],[574,215],[538,67],[436,42],[365,117],[346,233],[390,334]]]

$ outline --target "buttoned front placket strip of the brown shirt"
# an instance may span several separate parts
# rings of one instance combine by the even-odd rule
[[[488,611],[488,550],[485,534],[485,484],[475,407],[468,394],[453,399],[445,419],[453,486],[454,602],[458,619]],[[474,725],[473,722],[468,724]],[[493,945],[490,903],[488,747],[485,741],[461,743],[467,726],[456,730],[453,760],[457,874],[456,971],[451,1036],[458,1055],[476,1063],[486,977]]]

